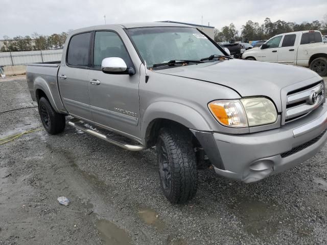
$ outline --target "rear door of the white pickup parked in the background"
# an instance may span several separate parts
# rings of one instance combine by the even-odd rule
[[[296,59],[296,34],[287,34],[282,40],[281,47],[278,48],[278,63],[295,64]]]

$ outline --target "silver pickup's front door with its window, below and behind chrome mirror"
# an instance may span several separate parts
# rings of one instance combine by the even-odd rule
[[[128,74],[105,74],[104,58],[120,57],[127,67],[133,63],[120,36],[113,31],[96,31],[93,66],[88,75],[90,110],[94,121],[123,134],[139,137],[139,71]]]

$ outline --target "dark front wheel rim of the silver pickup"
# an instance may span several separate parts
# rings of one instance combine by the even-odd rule
[[[159,174],[161,177],[162,187],[164,187],[165,190],[169,190],[172,183],[171,164],[169,162],[166,145],[162,140],[160,140],[159,147]]]

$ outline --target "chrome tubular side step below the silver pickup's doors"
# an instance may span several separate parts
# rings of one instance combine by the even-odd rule
[[[82,120],[80,120],[78,118],[73,118],[72,120],[68,121],[68,124],[76,129],[79,129],[79,130],[85,132],[85,133],[91,134],[100,139],[104,139],[105,141],[108,141],[109,143],[112,143],[114,145],[117,145],[117,146],[119,146],[123,149],[129,150],[129,151],[138,152],[138,151],[143,151],[146,149],[145,145],[139,144],[136,141],[132,141],[124,136],[115,134],[113,132],[111,133],[111,131],[110,131],[110,134],[106,135],[104,133],[97,132],[94,129],[87,128],[84,125],[84,124],[86,124],[86,122],[83,122]],[[116,139],[114,139],[114,138],[116,138]]]

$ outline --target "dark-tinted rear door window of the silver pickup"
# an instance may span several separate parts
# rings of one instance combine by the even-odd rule
[[[89,65],[91,32],[72,36],[69,41],[66,63],[71,66],[87,67]]]

